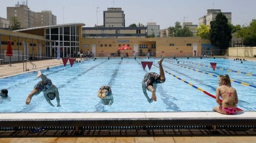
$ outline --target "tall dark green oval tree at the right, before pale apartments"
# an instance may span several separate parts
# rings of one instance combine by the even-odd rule
[[[228,25],[228,19],[223,13],[218,13],[215,20],[211,21],[210,40],[212,45],[219,49],[228,49],[231,35],[231,27]]]

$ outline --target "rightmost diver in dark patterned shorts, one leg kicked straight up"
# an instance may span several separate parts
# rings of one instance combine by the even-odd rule
[[[144,76],[144,79],[142,80],[142,90],[143,90],[144,96],[147,98],[147,101],[149,103],[153,102],[153,100],[156,101],[157,84],[162,84],[165,82],[165,72],[164,72],[164,69],[162,68],[162,61],[164,61],[164,58],[165,56],[162,56],[161,59],[159,59],[158,61],[160,75],[154,72],[147,73]],[[147,90],[152,92],[151,98],[148,97]]]

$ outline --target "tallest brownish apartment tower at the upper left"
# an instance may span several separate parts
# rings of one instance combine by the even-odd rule
[[[21,28],[34,27],[34,11],[29,10],[25,3],[20,5],[18,2],[15,7],[7,7],[7,19],[10,20],[10,18],[13,16],[18,18],[19,22],[21,23]]]

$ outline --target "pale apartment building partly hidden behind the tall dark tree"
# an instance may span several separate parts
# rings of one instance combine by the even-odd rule
[[[220,9],[207,9],[206,10],[206,15],[203,17],[199,18],[199,25],[204,24],[210,26],[210,22],[215,20],[215,17],[217,16],[218,13],[221,13],[222,10]],[[228,22],[231,23],[231,13],[223,13],[228,19]]]

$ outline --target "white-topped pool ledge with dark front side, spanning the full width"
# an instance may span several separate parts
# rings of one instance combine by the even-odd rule
[[[91,113],[1,113],[0,127],[74,126],[228,126],[256,125],[256,112],[236,115],[217,112],[91,112]]]

